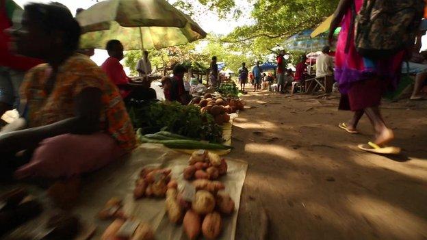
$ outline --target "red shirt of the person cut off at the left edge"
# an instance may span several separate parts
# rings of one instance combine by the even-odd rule
[[[14,55],[10,52],[9,42],[10,36],[5,34],[5,29],[11,27],[12,24],[6,15],[5,8],[0,9],[0,66],[7,66],[15,70],[27,71],[43,61],[31,57],[22,57]]]

